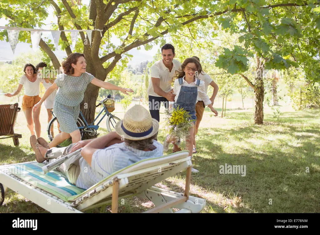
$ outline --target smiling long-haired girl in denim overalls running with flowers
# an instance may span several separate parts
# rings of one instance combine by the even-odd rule
[[[181,65],[180,69],[176,71],[177,78],[174,80],[173,92],[176,94],[174,99],[173,108],[178,106],[184,108],[191,115],[193,121],[193,127],[190,128],[190,135],[186,138],[186,146],[189,150],[189,156],[192,157],[193,151],[193,132],[194,125],[196,123],[196,102],[197,96],[204,101],[204,104],[207,105],[215,116],[218,116],[218,112],[212,107],[211,100],[209,96],[205,93],[204,82],[197,79],[196,74],[201,73],[202,67],[200,62],[196,58],[188,58]],[[172,139],[167,135],[164,141],[164,151],[168,149],[169,143]],[[166,151],[165,151],[166,152]],[[198,170],[192,168],[192,172],[197,173]]]

